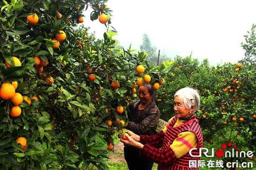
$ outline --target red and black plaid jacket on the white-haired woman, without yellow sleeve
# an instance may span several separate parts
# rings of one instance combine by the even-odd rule
[[[144,144],[142,153],[155,163],[158,163],[158,170],[197,170],[198,168],[189,168],[189,160],[198,160],[200,157],[191,157],[189,153],[177,159],[170,145],[182,131],[192,131],[198,138],[197,150],[193,150],[193,155],[199,155],[199,148],[203,146],[202,130],[196,117],[192,116],[184,124],[172,127],[178,118],[173,118],[168,124],[166,134],[163,131],[155,136],[142,136],[140,142]],[[162,149],[157,149],[161,148]]]

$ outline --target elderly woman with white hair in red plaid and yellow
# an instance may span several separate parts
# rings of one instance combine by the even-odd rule
[[[194,115],[200,97],[189,87],[180,89],[174,97],[175,116],[162,131],[154,136],[128,131],[128,140],[121,137],[121,142],[139,148],[143,156],[158,163],[158,170],[196,170],[200,157],[195,156],[203,146],[202,129]]]

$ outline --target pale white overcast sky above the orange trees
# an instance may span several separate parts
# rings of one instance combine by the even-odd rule
[[[244,57],[241,42],[256,23],[256,0],[108,0],[113,10],[111,26],[120,45],[140,50],[147,33],[153,46],[170,57],[208,58],[212,63],[235,63]],[[106,27],[90,20],[85,26],[103,39]]]

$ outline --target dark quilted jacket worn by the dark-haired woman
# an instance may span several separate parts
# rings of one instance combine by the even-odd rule
[[[132,100],[129,103],[129,120],[131,120],[132,114],[137,114],[135,113],[135,111],[137,110],[136,108],[138,108],[139,104],[139,100]],[[133,131],[137,135],[155,135],[157,133],[155,130],[159,118],[160,111],[155,105],[155,101],[152,100],[152,102],[141,112],[141,114],[135,121],[129,121],[128,125],[126,126],[126,129]]]

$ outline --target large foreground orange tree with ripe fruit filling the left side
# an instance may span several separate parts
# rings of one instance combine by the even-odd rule
[[[153,85],[171,64],[148,65],[146,53],[115,48],[115,33],[96,40],[79,26],[92,7],[91,20],[106,14],[108,28],[105,2],[0,1],[0,87],[13,84],[0,90],[0,169],[108,169],[102,157],[123,127],[107,122],[127,122],[132,82],[149,74]],[[3,97],[11,92],[22,95],[21,104]]]

